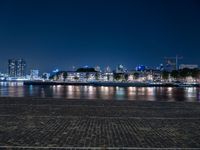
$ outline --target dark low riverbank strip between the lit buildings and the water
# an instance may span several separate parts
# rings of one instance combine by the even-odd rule
[[[57,81],[24,81],[24,85],[86,85],[118,87],[200,87],[199,84],[177,83],[143,83],[143,82],[57,82]]]

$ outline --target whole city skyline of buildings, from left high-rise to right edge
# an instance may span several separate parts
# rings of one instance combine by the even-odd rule
[[[177,65],[177,57],[166,58],[165,64],[161,64],[155,69],[150,69],[144,65],[137,66],[134,70],[129,71],[123,65],[118,65],[114,70],[106,67],[101,70],[99,66],[89,68],[85,66],[76,71],[59,71],[54,70],[50,73],[40,74],[39,70],[32,69],[27,74],[27,64],[24,59],[9,59],[8,73],[1,74],[0,80],[53,80],[53,81],[128,81],[128,82],[160,82],[162,80],[162,72],[172,71],[177,69],[195,69],[199,66],[196,64],[181,64]],[[177,68],[178,66],[178,68]],[[93,70],[92,70],[93,69]]]

